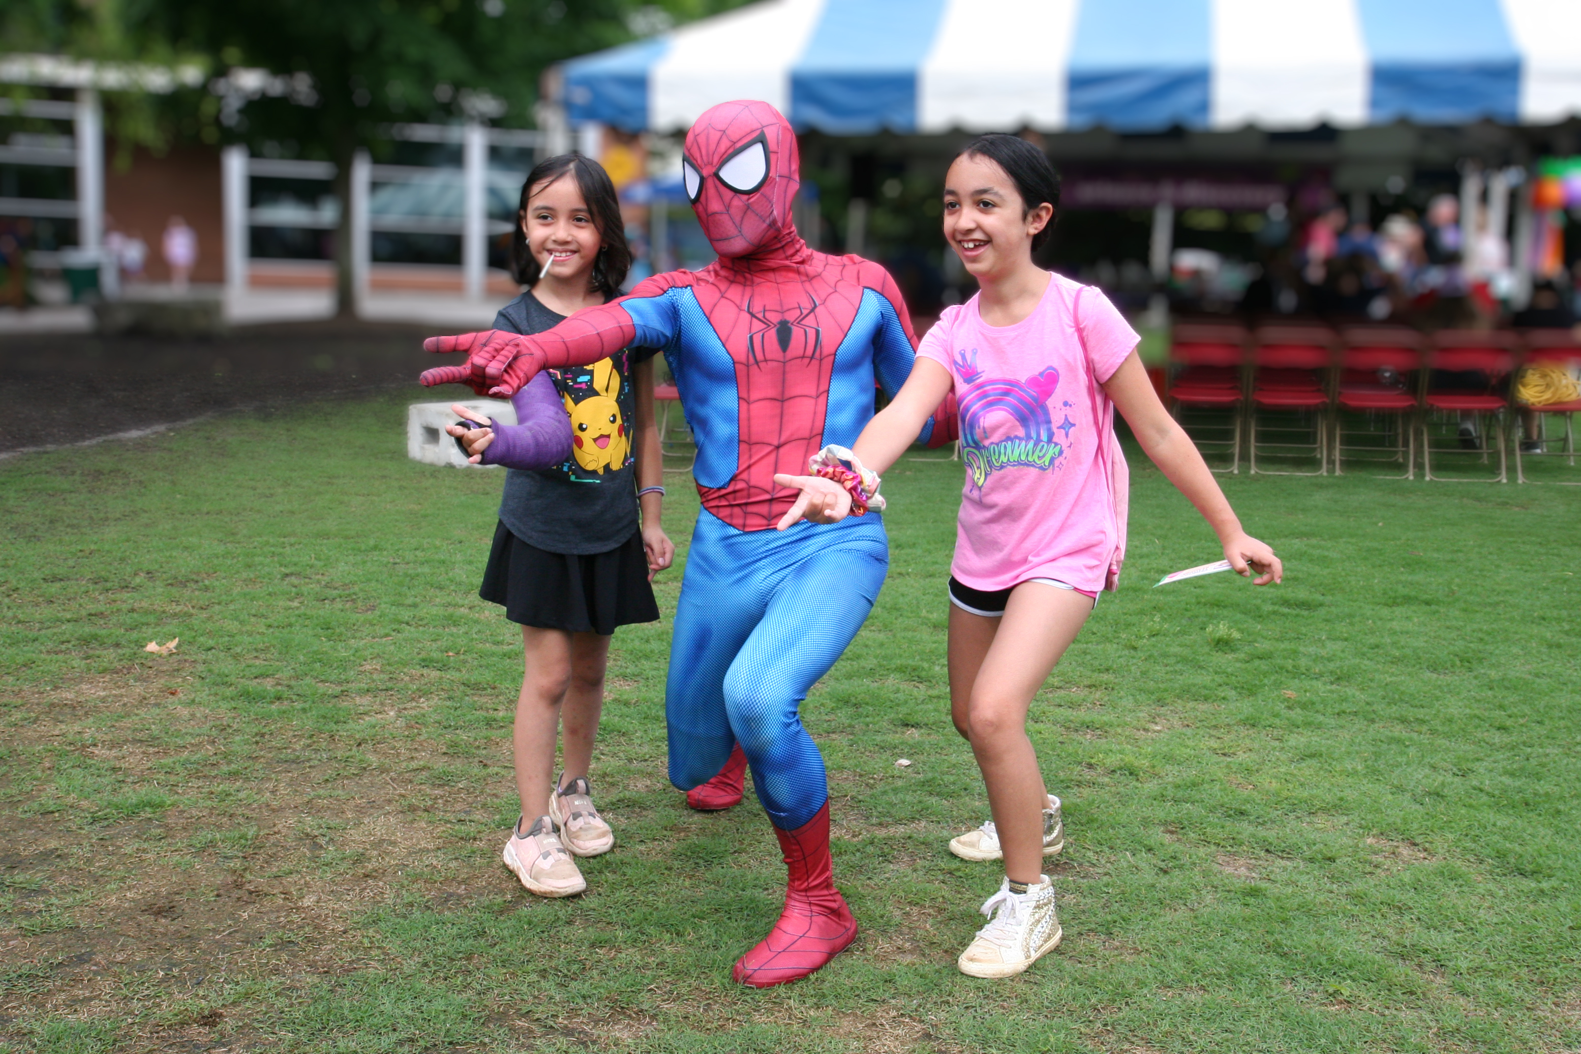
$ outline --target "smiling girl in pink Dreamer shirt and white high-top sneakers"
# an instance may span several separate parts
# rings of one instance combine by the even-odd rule
[[[1059,177],[1015,136],[980,136],[950,164],[944,237],[980,292],[947,308],[922,340],[904,387],[854,450],[830,447],[822,474],[776,476],[802,496],[779,523],[833,523],[874,501],[877,476],[953,390],[961,493],[950,567],[950,714],[972,744],[993,822],[950,842],[968,860],[1004,860],[990,918],[958,966],[1010,977],[1059,943],[1043,856],[1064,847],[1026,735],[1026,711],[1126,551],[1126,460],[1115,409],[1141,449],[1197,507],[1236,572],[1257,585],[1284,569],[1247,536],[1192,441],[1159,401],[1137,357],[1137,333],[1102,291],[1042,270]],[[849,466],[849,468],[847,468]]]

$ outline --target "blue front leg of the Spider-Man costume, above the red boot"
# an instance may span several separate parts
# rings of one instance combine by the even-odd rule
[[[787,531],[775,539],[792,545],[765,553],[776,566],[772,599],[724,678],[730,728],[753,766],[757,796],[781,831],[800,828],[828,800],[824,757],[798,708],[862,629],[889,569],[877,517],[836,529],[802,528],[800,537],[786,537]]]

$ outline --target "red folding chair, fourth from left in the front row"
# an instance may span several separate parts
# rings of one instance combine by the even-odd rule
[[[1489,482],[1505,484],[1510,480],[1508,461],[1505,457],[1505,409],[1510,400],[1499,390],[1507,387],[1510,373],[1515,370],[1515,335],[1507,332],[1477,330],[1440,330],[1432,335],[1432,349],[1428,352],[1428,386],[1421,397],[1421,471],[1424,479],[1440,482],[1470,484]],[[1442,373],[1475,373],[1481,376],[1480,390],[1453,389],[1442,381],[1434,382],[1431,371]],[[1499,446],[1499,474],[1488,480],[1478,479],[1447,479],[1432,474],[1432,417],[1443,419],[1455,414],[1456,422],[1464,414],[1472,414],[1478,425],[1477,435],[1486,436],[1477,450],[1481,461],[1488,463],[1488,442]],[[1448,450],[1439,450],[1439,455]]]

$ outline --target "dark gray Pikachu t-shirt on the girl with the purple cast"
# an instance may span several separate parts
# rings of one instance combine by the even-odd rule
[[[542,333],[564,319],[523,292],[500,310],[495,329]],[[631,367],[651,356],[623,348],[590,367],[547,371],[571,412],[571,460],[536,472],[506,469],[500,521],[511,534],[550,553],[588,556],[637,533]]]

